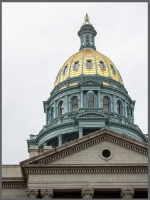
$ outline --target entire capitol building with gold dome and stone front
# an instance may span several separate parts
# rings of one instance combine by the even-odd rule
[[[46,124],[27,140],[29,159],[2,166],[3,198],[148,198],[148,138],[96,35],[86,14],[79,51],[43,102]]]

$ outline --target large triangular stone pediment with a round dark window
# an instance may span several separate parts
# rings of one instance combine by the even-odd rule
[[[60,147],[53,148],[52,150],[41,153],[38,156],[34,156],[25,161],[22,161],[20,162],[20,165],[21,167],[24,167],[29,165],[52,166],[53,164],[69,164],[67,163],[67,160],[71,160],[70,164],[76,164],[77,163],[76,159],[79,157],[81,159],[80,164],[89,164],[86,163],[86,160],[90,161],[90,159],[93,158],[94,156],[96,156],[95,162],[96,160],[98,160],[98,158],[100,159],[100,153],[101,153],[100,151],[104,147],[106,147],[106,149],[107,148],[117,149],[118,153],[122,153],[122,155],[118,154],[120,155],[120,159],[121,157],[124,159],[125,158],[128,159],[124,160],[124,162],[129,162],[129,160],[131,161],[131,163],[134,163],[134,161],[139,162],[139,160],[143,162],[144,159],[147,159],[148,155],[148,145],[146,143],[135,140],[123,134],[111,131],[109,129],[101,129],[99,131],[86,135],[82,138],[64,144]],[[99,149],[98,150],[99,153],[97,153],[97,155],[91,154],[91,156],[89,157],[88,155],[90,154],[88,152],[97,151],[95,148]],[[84,153],[87,156],[84,155],[83,159],[81,154]],[[118,155],[116,156],[116,158],[115,157],[114,158],[117,159]],[[83,160],[85,160],[85,163],[82,162]],[[112,160],[113,159],[111,159],[110,161]],[[106,162],[106,160],[104,160],[104,162]],[[116,161],[114,160],[113,162],[115,163]],[[91,164],[96,164],[96,163],[92,161]]]

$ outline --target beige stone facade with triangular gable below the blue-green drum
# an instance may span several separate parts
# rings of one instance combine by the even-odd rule
[[[105,149],[110,151],[108,157],[101,153]],[[138,191],[146,195],[147,163],[146,143],[102,129],[40,152],[20,166],[3,166],[3,197],[10,198],[11,191],[14,198],[55,198],[66,190],[78,191],[80,198],[94,198],[99,190],[118,191],[120,198],[131,198]]]

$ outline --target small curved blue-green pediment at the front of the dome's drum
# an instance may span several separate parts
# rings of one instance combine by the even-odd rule
[[[99,112],[83,112],[80,113],[76,119],[107,119],[108,117],[106,115],[104,115],[103,113],[99,113]]]

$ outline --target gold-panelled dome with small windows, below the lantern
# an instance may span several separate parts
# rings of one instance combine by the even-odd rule
[[[90,69],[87,68],[88,61],[91,62]],[[77,67],[75,67],[75,63]],[[54,86],[65,81],[67,78],[80,76],[82,74],[98,74],[100,76],[111,77],[122,85],[124,84],[119,71],[107,56],[94,49],[82,49],[69,57],[64,63],[56,77]]]

